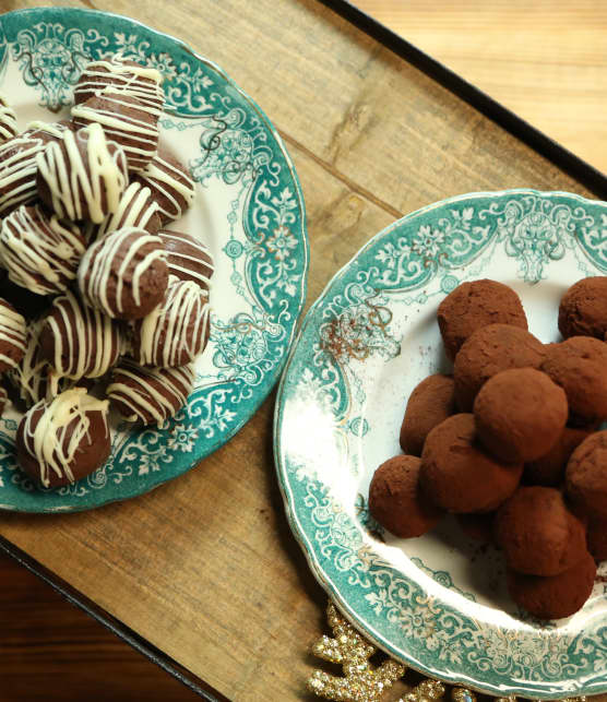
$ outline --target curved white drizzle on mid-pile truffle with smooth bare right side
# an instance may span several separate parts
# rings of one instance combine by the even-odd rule
[[[144,247],[148,250],[143,251]],[[108,317],[120,317],[123,295],[142,305],[141,278],[156,261],[166,261],[163,240],[138,227],[124,227],[108,234],[88,247],[78,272],[78,284],[86,304]],[[115,281],[110,296],[109,281]],[[128,286],[128,289],[126,289]]]

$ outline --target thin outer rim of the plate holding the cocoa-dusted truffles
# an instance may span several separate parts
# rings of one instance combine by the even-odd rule
[[[593,206],[596,206],[596,205],[607,206],[607,201],[605,200],[590,199],[590,198],[585,198],[584,195],[580,195],[579,193],[573,193],[566,190],[537,190],[534,188],[509,188],[509,189],[495,190],[495,191],[491,191],[491,190],[474,191],[474,192],[460,193],[456,195],[444,198],[442,200],[418,207],[417,210],[407,213],[403,217],[395,219],[394,222],[385,226],[383,229],[374,234],[329,279],[329,282],[323,287],[318,298],[310,306],[310,308],[308,309],[308,311],[306,312],[304,319],[299,324],[299,331],[290,346],[289,354],[283,369],[283,374],[281,377],[281,382],[278,383],[278,388],[276,391],[276,403],[274,407],[274,421],[273,421],[273,436],[274,436],[273,454],[274,454],[274,467],[276,471],[278,488],[281,491],[281,496],[283,498],[287,522],[290,526],[291,533],[296,542],[298,543],[299,547],[304,551],[304,556],[306,557],[306,561],[308,562],[308,566],[310,567],[312,574],[317,579],[317,582],[325,591],[325,593],[331,597],[333,604],[335,604],[335,606],[337,607],[340,612],[346,618],[346,620],[353,627],[355,627],[357,631],[360,631],[366,638],[368,638],[373,645],[376,645],[378,649],[380,649],[388,655],[394,657],[395,659],[401,661],[403,664],[405,664],[406,666],[410,667],[412,669],[418,673],[430,676],[432,678],[439,677],[441,680],[450,685],[464,686],[465,688],[468,688],[471,690],[474,690],[483,694],[491,694],[500,698],[515,695],[515,697],[524,697],[525,699],[531,699],[531,700],[559,700],[559,699],[562,699],[563,697],[562,690],[552,691],[548,688],[543,689],[541,691],[529,690],[528,685],[527,687],[523,687],[524,683],[527,682],[526,680],[523,681],[522,683],[516,683],[512,681],[510,687],[504,687],[504,686],[498,686],[491,682],[483,681],[478,679],[478,676],[476,676],[473,679],[471,677],[465,676],[464,674],[449,674],[449,673],[441,671],[441,674],[438,675],[436,670],[424,665],[424,663],[415,659],[413,656],[407,657],[406,655],[405,656],[401,655],[401,652],[396,651],[389,641],[384,641],[383,639],[376,636],[373,631],[370,630],[367,626],[365,626],[365,622],[360,620],[360,618],[354,611],[354,608],[348,604],[348,602],[346,602],[346,597],[342,594],[340,590],[337,590],[334,586],[334,583],[331,581],[330,578],[326,576],[326,574],[323,572],[322,567],[318,562],[313,548],[311,548],[311,546],[309,545],[306,534],[304,533],[304,530],[300,527],[300,524],[296,519],[295,510],[293,509],[291,502],[288,499],[289,486],[287,480],[287,472],[286,472],[286,466],[283,464],[281,460],[281,454],[282,454],[281,426],[282,426],[283,413],[285,408],[285,392],[286,392],[286,388],[290,383],[290,380],[288,379],[289,368],[298,350],[301,337],[304,336],[308,326],[311,324],[312,318],[314,317],[317,310],[322,306],[329,293],[332,290],[333,286],[335,286],[337,282],[344,275],[346,275],[346,273],[350,270],[350,266],[355,264],[355,262],[359,259],[359,257],[361,257],[377,240],[386,236],[392,229],[402,225],[404,222],[408,219],[413,219],[414,217],[419,216],[420,214],[424,214],[426,212],[430,212],[437,207],[449,205],[452,203],[457,203],[462,200],[472,200],[474,198],[488,198],[488,197],[497,198],[497,197],[524,195],[524,194],[541,197],[547,200],[552,198],[558,198],[558,197],[566,197],[572,200],[578,200],[580,203],[592,204]],[[533,682],[531,682],[531,685],[533,685]],[[584,686],[584,682],[581,683],[581,687],[579,687],[579,689],[573,690],[572,694],[595,695],[595,694],[605,693],[607,692],[607,678],[596,687],[593,685],[592,689],[586,690],[583,686]],[[588,686],[586,683],[586,688]]]

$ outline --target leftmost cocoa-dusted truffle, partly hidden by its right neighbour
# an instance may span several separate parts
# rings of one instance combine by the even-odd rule
[[[394,456],[380,465],[369,487],[371,515],[401,538],[426,534],[442,516],[418,489],[420,463],[416,456]]]

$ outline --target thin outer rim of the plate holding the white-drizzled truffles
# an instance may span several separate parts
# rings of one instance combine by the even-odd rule
[[[163,476],[158,475],[156,480],[151,480],[150,484],[146,486],[146,489],[143,491],[134,491],[132,495],[128,496],[115,496],[110,497],[108,496],[107,499],[100,499],[95,504],[80,504],[80,503],[67,503],[64,508],[61,507],[53,507],[53,508],[43,508],[43,509],[34,509],[34,508],[21,508],[21,507],[14,507],[14,505],[9,505],[5,503],[0,502],[0,513],[2,512],[13,512],[13,513],[22,513],[22,514],[68,514],[68,513],[78,513],[78,512],[85,512],[88,510],[94,510],[94,509],[99,509],[102,507],[105,507],[106,504],[111,504],[112,502],[122,502],[124,500],[130,500],[134,499],[138,497],[141,497],[143,495],[146,495],[147,492],[151,492],[152,490],[160,487],[165,483],[169,483],[171,480],[175,480],[179,478],[181,475],[185,475],[186,473],[189,473],[190,471],[193,471],[197,468],[202,461],[207,459],[212,453],[224,447],[228,441],[230,441],[243,427],[247,425],[253,417],[257,415],[259,412],[259,408],[261,405],[265,402],[265,400],[269,397],[269,395],[272,393],[272,391],[276,388],[276,383],[279,381],[282,377],[282,371],[285,368],[285,364],[290,355],[290,350],[293,347],[293,344],[295,343],[295,338],[297,337],[297,332],[299,329],[299,325],[301,323],[301,317],[302,317],[302,311],[306,306],[306,300],[308,297],[308,277],[309,277],[309,272],[310,272],[310,237],[308,234],[308,217],[307,217],[307,212],[306,212],[306,200],[304,198],[304,191],[301,188],[301,183],[299,180],[299,176],[297,174],[297,170],[295,168],[295,164],[293,163],[293,158],[290,157],[286,145],[278,133],[278,130],[276,127],[274,127],[274,123],[271,121],[271,119],[267,117],[265,111],[261,108],[261,106],[243,90],[241,88],[235,81],[231,79],[226,71],[218,66],[215,61],[212,59],[209,59],[204,57],[202,53],[193,49],[187,41],[183,39],[180,39],[171,34],[168,34],[166,32],[163,32],[160,29],[156,29],[144,22],[141,22],[140,20],[134,20],[132,17],[129,17],[128,15],[124,14],[119,14],[117,12],[106,12],[105,10],[97,10],[97,9],[92,9],[92,8],[71,8],[71,7],[53,7],[53,5],[40,5],[36,8],[23,8],[23,9],[15,9],[15,10],[10,10],[9,12],[4,12],[0,14],[0,27],[2,26],[2,23],[4,21],[4,17],[9,16],[26,16],[26,15],[38,15],[38,14],[44,14],[46,12],[51,12],[57,15],[73,15],[78,14],[81,16],[103,16],[106,19],[115,19],[121,22],[127,22],[131,25],[134,25],[136,27],[143,28],[145,32],[150,32],[153,35],[164,37],[165,39],[168,39],[169,41],[174,43],[185,51],[189,52],[192,55],[197,61],[202,62],[203,64],[210,67],[213,71],[215,71],[238,95],[240,95],[253,109],[253,111],[259,116],[259,118],[263,121],[265,128],[267,131],[272,134],[274,138],[276,145],[278,147],[279,154],[284,158],[284,162],[288,168],[288,172],[290,175],[290,179],[293,181],[294,188],[295,188],[295,197],[298,202],[298,206],[300,207],[301,212],[301,233],[304,235],[302,237],[302,269],[301,269],[301,281],[298,286],[297,295],[298,295],[298,304],[297,304],[297,310],[296,313],[294,314],[294,320],[293,324],[290,328],[289,333],[287,334],[287,337],[285,338],[285,349],[286,353],[284,355],[284,358],[276,364],[276,367],[273,369],[271,373],[266,376],[266,390],[263,392],[260,392],[258,395],[255,395],[254,401],[251,403],[251,408],[250,412],[246,413],[246,416],[239,418],[239,420],[235,421],[233,427],[230,428],[229,431],[226,431],[221,436],[221,440],[211,442],[207,447],[207,449],[198,455],[195,461],[189,465],[189,467],[185,468],[182,472],[180,472],[177,475],[174,476]],[[169,112],[170,114],[170,112]]]

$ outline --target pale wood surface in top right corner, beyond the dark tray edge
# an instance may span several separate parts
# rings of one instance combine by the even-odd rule
[[[603,0],[357,0],[360,9],[607,170]]]

